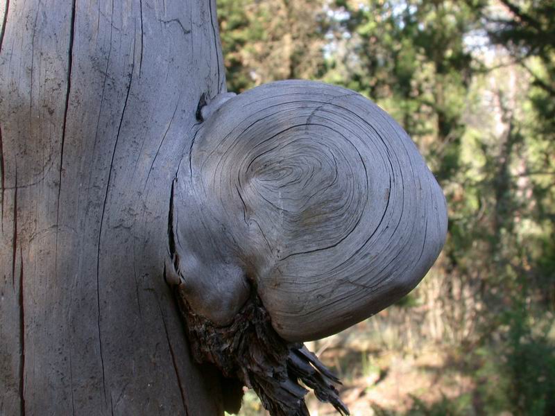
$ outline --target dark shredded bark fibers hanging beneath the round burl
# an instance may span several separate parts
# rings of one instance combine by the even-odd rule
[[[230,325],[216,327],[194,313],[180,286],[176,288],[176,298],[187,322],[196,361],[213,363],[225,378],[238,379],[253,388],[272,416],[309,416],[305,404],[308,390],[300,381],[312,388],[318,399],[331,403],[341,415],[349,414],[334,387],[334,383],[341,384],[339,379],[305,345],[288,343],[275,333],[256,295]],[[240,401],[241,395],[242,392],[236,400]],[[234,406],[229,410],[234,410]]]

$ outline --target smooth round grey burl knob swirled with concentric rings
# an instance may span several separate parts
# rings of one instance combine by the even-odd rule
[[[334,333],[395,302],[445,241],[445,199],[416,146],[346,89],[283,81],[240,94],[205,121],[188,162],[178,233],[198,241],[183,255],[212,270],[196,279],[237,279],[228,289],[239,300],[246,279],[288,340]]]

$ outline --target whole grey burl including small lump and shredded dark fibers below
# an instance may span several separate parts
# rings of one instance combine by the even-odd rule
[[[298,380],[348,413],[300,343],[418,284],[445,242],[443,193],[407,133],[348,89],[283,81],[200,113],[167,267],[194,354],[272,415],[308,414]]]

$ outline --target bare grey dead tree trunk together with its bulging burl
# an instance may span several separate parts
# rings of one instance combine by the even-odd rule
[[[300,342],[438,256],[445,199],[402,128],[321,83],[225,94],[214,9],[0,9],[0,415],[221,415],[248,385],[306,416],[298,381],[348,414]]]

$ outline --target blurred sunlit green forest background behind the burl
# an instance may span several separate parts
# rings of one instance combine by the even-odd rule
[[[352,414],[555,415],[555,3],[218,10],[230,91],[287,78],[354,89],[409,132],[447,197],[447,243],[416,291],[309,345]],[[266,413],[249,392],[241,414]]]

